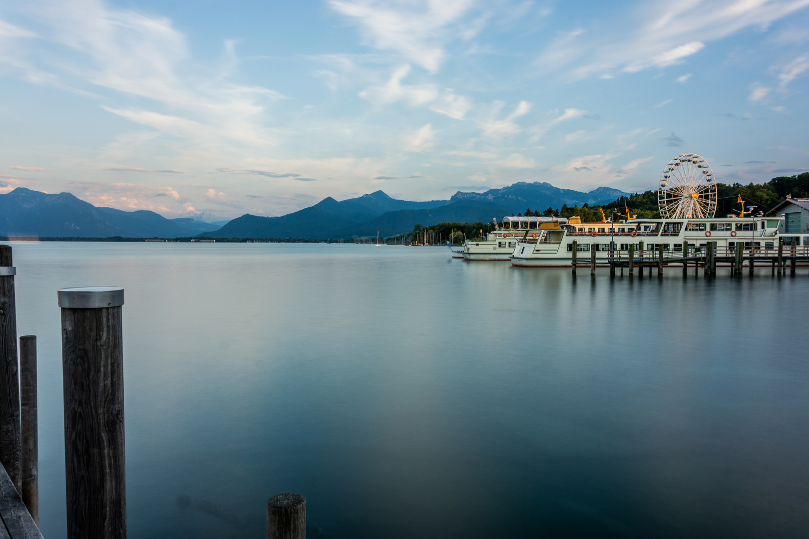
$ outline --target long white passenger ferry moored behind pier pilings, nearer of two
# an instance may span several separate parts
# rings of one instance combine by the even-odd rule
[[[590,259],[591,251],[595,251],[596,264],[608,265],[611,242],[614,242],[616,251],[626,251],[633,245],[635,252],[640,253],[657,251],[661,245],[664,249],[682,251],[684,242],[698,247],[714,242],[715,246],[731,249],[735,246],[765,249],[777,247],[779,239],[785,242],[798,240],[779,233],[779,229],[784,229],[781,224],[784,217],[632,219],[618,223],[575,221],[576,218],[571,217],[569,224],[538,231],[536,238],[533,234],[520,238],[511,255],[511,264],[522,267],[570,267],[573,242],[577,244],[578,260]]]

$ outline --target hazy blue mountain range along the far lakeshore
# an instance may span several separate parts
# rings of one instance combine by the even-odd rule
[[[392,236],[413,226],[438,222],[501,219],[527,208],[563,204],[604,204],[629,193],[599,187],[591,192],[561,189],[550,183],[519,182],[486,192],[456,192],[449,200],[399,200],[382,191],[347,200],[327,197],[281,217],[249,213],[219,223],[184,217],[167,219],[155,212],[95,207],[68,192],[49,194],[18,187],[0,195],[0,236],[53,238],[351,238]]]

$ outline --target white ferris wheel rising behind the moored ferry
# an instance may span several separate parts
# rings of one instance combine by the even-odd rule
[[[708,162],[697,154],[671,159],[660,175],[658,206],[666,219],[714,217],[716,180]]]

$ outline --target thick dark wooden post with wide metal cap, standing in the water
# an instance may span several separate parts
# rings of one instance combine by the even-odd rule
[[[63,288],[68,539],[125,539],[123,288]]]

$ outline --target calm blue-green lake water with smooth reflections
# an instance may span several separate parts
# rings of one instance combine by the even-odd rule
[[[129,537],[809,537],[809,276],[591,280],[446,248],[14,244],[40,526],[57,288],[123,286]]]

